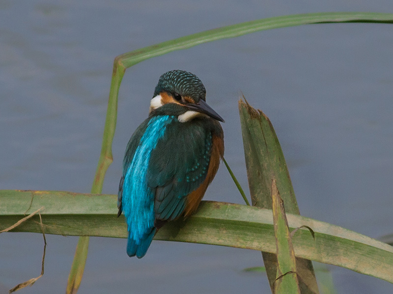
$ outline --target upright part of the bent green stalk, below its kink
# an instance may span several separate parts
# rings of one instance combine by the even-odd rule
[[[116,128],[117,118],[117,97],[121,80],[123,78],[125,68],[121,64],[115,63],[113,66],[112,83],[110,99],[108,101],[107,116],[105,119],[104,135],[102,139],[101,154],[98,161],[97,171],[94,176],[93,185],[91,187],[92,194],[100,194],[104,184],[105,173],[113,161],[112,141],[114,130]],[[113,93],[113,91],[117,91]],[[86,264],[87,252],[89,247],[89,237],[81,236],[78,240],[75,256],[72,262],[71,270],[68,276],[66,294],[75,294],[78,292],[82,282],[84,266]]]

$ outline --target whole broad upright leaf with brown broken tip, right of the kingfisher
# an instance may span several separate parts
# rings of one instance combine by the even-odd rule
[[[271,182],[276,180],[286,211],[299,214],[285,158],[272,123],[260,110],[252,108],[247,101],[246,103],[239,101],[239,112],[253,206],[272,208]],[[262,257],[270,287],[274,292],[273,286],[278,270],[277,256],[262,252]],[[312,263],[309,260],[298,259],[296,266],[300,276],[301,293],[318,293]]]

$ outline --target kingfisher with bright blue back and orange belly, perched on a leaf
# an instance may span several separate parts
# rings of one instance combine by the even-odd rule
[[[149,116],[129,140],[117,207],[127,228],[127,254],[142,258],[168,221],[192,215],[224,156],[224,119],[206,103],[193,73],[160,76]]]

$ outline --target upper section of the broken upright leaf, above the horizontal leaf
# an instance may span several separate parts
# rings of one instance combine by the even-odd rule
[[[286,212],[299,214],[284,154],[272,123],[246,100],[239,101],[239,112],[253,205],[272,209],[272,180],[276,180]]]

